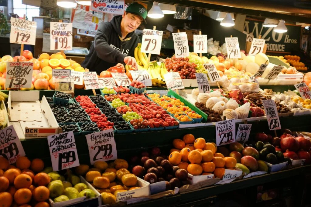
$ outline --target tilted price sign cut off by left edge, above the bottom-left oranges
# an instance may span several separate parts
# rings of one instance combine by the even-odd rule
[[[17,137],[13,125],[0,130],[0,156],[9,160],[9,163],[12,164],[19,157],[25,155],[21,140]]]

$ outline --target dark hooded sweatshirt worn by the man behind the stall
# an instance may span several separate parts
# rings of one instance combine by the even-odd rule
[[[134,49],[140,39],[135,32],[122,39],[121,20],[122,16],[115,16],[110,22],[101,22],[98,25],[94,43],[81,64],[83,68],[100,74],[117,63],[124,64],[124,57],[134,57]]]

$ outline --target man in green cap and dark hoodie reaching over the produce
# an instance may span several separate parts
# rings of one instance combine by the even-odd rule
[[[146,16],[147,11],[141,4],[132,3],[122,16],[115,16],[110,22],[101,22],[81,66],[97,74],[118,63],[137,69],[133,56],[140,40],[135,30],[142,22],[146,23]]]

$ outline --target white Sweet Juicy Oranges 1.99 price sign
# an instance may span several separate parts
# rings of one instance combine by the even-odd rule
[[[51,50],[72,50],[72,23],[50,22]]]

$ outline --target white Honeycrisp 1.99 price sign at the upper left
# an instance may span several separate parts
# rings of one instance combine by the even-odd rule
[[[10,43],[35,45],[37,22],[11,17]]]

